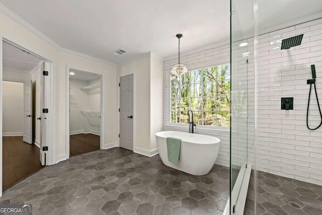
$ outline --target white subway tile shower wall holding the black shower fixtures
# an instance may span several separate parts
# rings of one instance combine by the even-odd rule
[[[280,49],[282,39],[298,34],[304,34],[301,45]],[[306,127],[311,64],[322,103],[322,19],[261,35],[258,43],[258,170],[322,185],[322,128]],[[250,57],[248,111],[253,113],[254,55]],[[281,97],[293,97],[294,110],[281,110]],[[313,92],[309,115],[309,125],[318,125]],[[248,159],[253,164],[254,114],[248,117]]]

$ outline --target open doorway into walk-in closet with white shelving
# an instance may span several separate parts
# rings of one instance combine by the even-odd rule
[[[102,76],[69,69],[69,157],[101,148]]]

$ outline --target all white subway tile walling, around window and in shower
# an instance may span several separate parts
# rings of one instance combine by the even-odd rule
[[[282,39],[304,34],[301,45],[280,50]],[[232,162],[254,162],[254,38],[248,47],[232,46]],[[258,133],[257,168],[272,174],[322,185],[322,128],[306,128],[306,108],[311,78],[310,65],[315,64],[316,87],[322,105],[322,19],[306,22],[259,36],[258,41]],[[249,52],[248,56],[245,56]],[[191,52],[190,52],[191,53]],[[248,63],[247,63],[248,59]],[[178,58],[164,62],[164,129],[169,126],[170,70]],[[229,45],[183,56],[188,69],[229,61]],[[239,95],[239,99],[237,98]],[[247,96],[246,96],[247,95]],[[294,110],[281,110],[281,97],[294,98]],[[245,110],[245,101],[247,110]],[[315,95],[311,94],[309,125],[319,123]],[[221,139],[216,163],[229,165],[229,131],[195,130]]]

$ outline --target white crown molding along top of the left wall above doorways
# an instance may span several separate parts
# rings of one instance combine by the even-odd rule
[[[78,55],[78,56],[82,56],[82,57],[86,57],[86,58],[89,58],[89,59],[92,59],[92,60],[96,60],[96,61],[99,61],[101,63],[107,64],[107,65],[116,66],[116,63],[112,63],[112,62],[109,62],[107,60],[103,60],[103,59],[100,59],[100,58],[97,58],[97,57],[93,57],[93,56],[90,56],[90,55],[87,55],[87,54],[83,54],[83,53],[80,53],[80,52],[77,52],[77,51],[73,51],[73,50],[69,50],[69,49],[61,47],[55,41],[53,41],[52,39],[50,39],[49,37],[47,37],[46,35],[41,33],[38,29],[36,29],[32,25],[30,25],[24,19],[22,19],[20,16],[18,16],[17,14],[15,14],[11,10],[9,10],[3,4],[0,4],[0,13],[6,15],[9,19],[11,19],[14,22],[18,23],[22,27],[24,27],[27,30],[29,30],[31,33],[35,34],[36,36],[40,37],[41,39],[43,39],[44,41],[48,42],[50,45],[54,46],[55,48],[57,48],[57,49],[59,49],[61,51],[65,51],[65,52],[72,53],[72,54],[75,54],[75,55]]]

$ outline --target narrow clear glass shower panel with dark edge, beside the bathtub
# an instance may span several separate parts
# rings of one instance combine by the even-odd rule
[[[249,163],[249,97],[248,76],[252,69],[249,57],[253,43],[244,34],[246,25],[238,16],[241,1],[231,0],[230,7],[230,66],[231,66],[231,127],[230,127],[230,214],[237,208],[237,200]],[[244,24],[244,25],[243,25]],[[254,40],[253,40],[254,41]],[[251,101],[252,102],[252,101]],[[238,204],[239,205],[239,204]],[[239,206],[243,207],[243,206]]]

